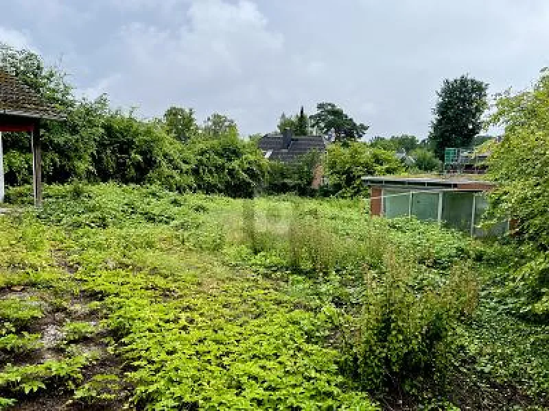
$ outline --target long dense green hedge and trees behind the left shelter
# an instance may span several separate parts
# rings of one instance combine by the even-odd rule
[[[31,51],[1,46],[0,64],[67,115],[66,121],[43,122],[47,183],[159,184],[180,192],[243,197],[252,195],[265,178],[261,153],[240,140],[235,122],[222,114],[209,116],[202,130],[191,109],[172,107],[162,121],[145,121],[132,112],[110,110],[104,95],[93,101],[76,99],[65,75],[45,68]],[[3,143],[6,184],[30,184],[30,136],[5,133]]]

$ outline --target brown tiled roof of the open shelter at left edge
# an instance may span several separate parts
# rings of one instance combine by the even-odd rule
[[[17,77],[0,69],[0,114],[32,119],[64,119],[54,105],[46,103]]]

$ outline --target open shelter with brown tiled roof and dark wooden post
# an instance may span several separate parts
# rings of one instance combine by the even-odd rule
[[[46,103],[20,79],[0,69],[0,203],[4,199],[3,132],[27,132],[31,135],[34,204],[42,203],[42,145],[40,121],[62,120],[56,107]]]

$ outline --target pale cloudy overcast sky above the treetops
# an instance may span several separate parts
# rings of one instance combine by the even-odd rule
[[[61,61],[84,95],[221,112],[242,134],[331,101],[369,138],[421,138],[444,78],[494,94],[549,66],[548,0],[0,0],[0,15],[0,41]]]

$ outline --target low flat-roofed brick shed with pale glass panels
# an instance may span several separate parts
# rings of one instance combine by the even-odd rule
[[[494,236],[509,230],[509,223],[479,227],[488,208],[486,192],[494,184],[466,178],[430,177],[363,177],[371,187],[370,212],[375,216],[394,218],[416,216],[460,229],[471,236]]]

